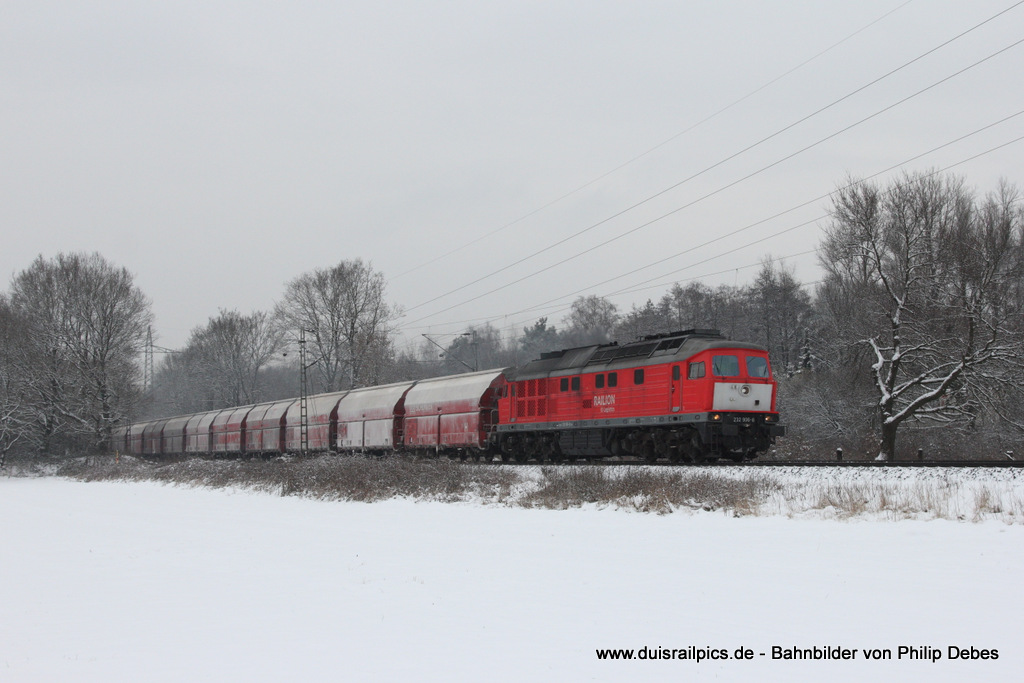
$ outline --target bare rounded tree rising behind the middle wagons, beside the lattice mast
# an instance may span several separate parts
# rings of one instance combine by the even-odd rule
[[[386,374],[397,310],[385,300],[384,276],[360,259],[288,283],[275,316],[293,342],[307,331],[324,391],[362,386]]]

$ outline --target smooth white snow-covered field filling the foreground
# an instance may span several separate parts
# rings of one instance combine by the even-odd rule
[[[2,681],[1011,681],[1024,671],[1019,524],[368,505],[56,478],[0,478],[0,516]],[[679,658],[691,646],[754,658]],[[857,651],[779,660],[773,646]],[[899,659],[900,646],[941,659]],[[950,660],[950,646],[998,658]],[[596,653],[643,647],[675,658]],[[867,660],[865,648],[893,659]]]

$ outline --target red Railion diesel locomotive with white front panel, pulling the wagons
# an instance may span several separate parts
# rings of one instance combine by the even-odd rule
[[[768,352],[715,330],[545,353],[509,373],[498,441],[515,460],[754,458],[782,436]]]

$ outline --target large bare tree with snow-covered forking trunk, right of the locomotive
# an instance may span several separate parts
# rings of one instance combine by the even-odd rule
[[[867,350],[881,459],[908,420],[970,423],[982,387],[1018,367],[1021,230],[1006,184],[982,203],[936,174],[834,196],[819,298],[836,336]]]

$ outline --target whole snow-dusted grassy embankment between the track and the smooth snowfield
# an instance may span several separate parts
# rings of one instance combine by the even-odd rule
[[[845,481],[814,472],[779,476],[728,468],[502,467],[443,459],[335,456],[161,463],[93,457],[36,470],[82,481],[159,481],[368,503],[409,498],[553,510],[595,506],[659,514],[720,510],[737,516],[1024,522],[1024,490],[1015,482]]]

